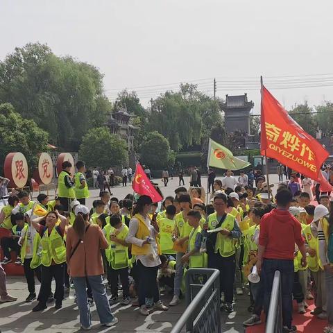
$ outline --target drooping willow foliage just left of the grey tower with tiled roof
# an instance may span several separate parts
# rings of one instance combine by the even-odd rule
[[[166,92],[153,101],[147,128],[162,133],[179,151],[201,144],[218,123],[222,123],[219,101],[199,92],[196,85],[184,84],[179,92]]]

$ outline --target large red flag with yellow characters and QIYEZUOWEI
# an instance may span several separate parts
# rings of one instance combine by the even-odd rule
[[[328,153],[294,121],[262,86],[261,153],[287,167],[320,181],[321,165]]]

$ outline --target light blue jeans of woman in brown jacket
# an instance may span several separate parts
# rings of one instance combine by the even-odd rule
[[[90,314],[90,308],[87,299],[86,277],[72,279],[76,291],[78,309],[80,311],[80,324],[83,327],[89,327],[92,325],[92,316]],[[90,287],[92,287],[92,295],[94,296],[97,312],[99,314],[99,321],[101,324],[110,323],[114,316],[110,310],[108,295],[103,284],[102,275],[87,276],[87,280],[90,284]]]

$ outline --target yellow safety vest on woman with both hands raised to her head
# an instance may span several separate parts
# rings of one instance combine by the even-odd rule
[[[64,239],[54,227],[49,235],[49,230],[46,229],[42,239],[42,264],[51,266],[52,259],[56,264],[62,264],[66,261],[66,246]]]

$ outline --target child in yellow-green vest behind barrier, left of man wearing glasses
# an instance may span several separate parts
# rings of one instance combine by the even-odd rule
[[[201,215],[197,210],[190,210],[187,213],[187,218],[192,230],[189,234],[189,247],[187,253],[182,256],[182,263],[189,262],[189,268],[205,268],[207,267],[207,254],[200,253],[201,241],[203,239],[200,227]]]

